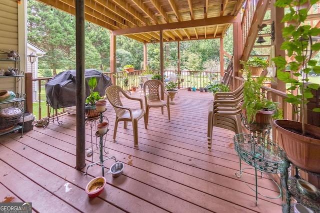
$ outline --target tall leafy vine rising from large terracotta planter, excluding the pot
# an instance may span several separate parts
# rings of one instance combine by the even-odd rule
[[[272,59],[277,66],[276,74],[277,78],[285,83],[290,83],[291,86],[287,89],[298,90],[296,95],[288,93],[286,102],[298,105],[300,108],[301,123],[302,123],[302,135],[305,135],[305,123],[307,111],[308,99],[312,98],[311,89],[318,89],[319,84],[308,83],[308,74],[313,73],[320,74],[320,67],[316,65],[316,60],[309,60],[308,56],[311,51],[320,50],[320,43],[312,43],[312,36],[318,36],[320,29],[317,27],[311,27],[306,25],[304,21],[307,18],[307,9],[302,7],[307,0],[277,0],[274,6],[289,8],[289,12],[284,15],[282,22],[289,22],[288,26],[282,29],[282,37],[284,42],[281,45],[282,50],[286,50],[288,57],[294,57],[293,61],[286,62],[282,56],[277,56]],[[311,8],[315,4],[316,0],[310,0]],[[310,46],[310,47],[308,47]],[[286,66],[290,67],[294,77],[290,76],[290,73],[285,72]],[[302,69],[302,70],[301,70]],[[314,108],[313,111],[320,112],[319,108]]]

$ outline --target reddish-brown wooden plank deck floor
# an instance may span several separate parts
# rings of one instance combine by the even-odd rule
[[[139,91],[132,96],[139,97]],[[142,98],[142,96],[141,96]],[[139,146],[134,148],[132,126],[118,126],[112,141],[115,113],[107,104],[109,120],[105,156],[115,156],[125,164],[123,174],[112,178],[98,198],[89,199],[85,185],[101,176],[101,167],[88,169],[88,175],[75,170],[75,115],[61,117],[62,125],[50,123],[46,129],[34,127],[24,134],[0,137],[0,201],[32,202],[34,212],[131,212],[131,213],[279,213],[281,199],[259,196],[235,176],[239,159],[234,151],[233,133],[213,130],[212,150],[207,150],[207,108],[210,93],[179,90],[176,105],[166,110],[151,108],[148,129],[139,121]],[[91,146],[86,127],[86,147]],[[98,160],[93,154],[93,162]],[[86,157],[86,165],[91,157]],[[105,171],[114,160],[104,162]],[[254,170],[243,178],[254,187]],[[266,176],[265,176],[266,177]],[[267,177],[258,179],[259,192],[276,196],[276,187]],[[69,189],[69,190],[68,190]]]

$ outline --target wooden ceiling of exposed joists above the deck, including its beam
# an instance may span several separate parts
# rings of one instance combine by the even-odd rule
[[[75,14],[76,0],[38,0]],[[243,0],[84,0],[85,19],[143,43],[221,38]]]

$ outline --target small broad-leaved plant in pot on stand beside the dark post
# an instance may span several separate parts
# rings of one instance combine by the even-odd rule
[[[102,97],[99,95],[98,91],[94,92],[94,88],[97,86],[96,77],[91,77],[89,79],[88,86],[90,94],[85,99],[85,115],[87,118],[93,118],[100,115],[100,113],[96,111],[95,102],[101,100]]]

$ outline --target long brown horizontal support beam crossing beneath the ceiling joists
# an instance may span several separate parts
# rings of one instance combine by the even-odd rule
[[[129,29],[116,29],[116,30],[113,30],[113,34],[126,35],[126,34],[142,33],[142,32],[168,30],[168,29],[210,26],[215,24],[226,24],[226,23],[234,23],[234,22],[235,22],[235,19],[233,18],[233,16],[228,15],[228,16],[222,16],[222,17],[212,17],[212,18],[196,19],[196,20],[189,20],[189,21],[156,24],[156,25],[150,25],[150,26],[141,26],[141,27],[134,27]]]

